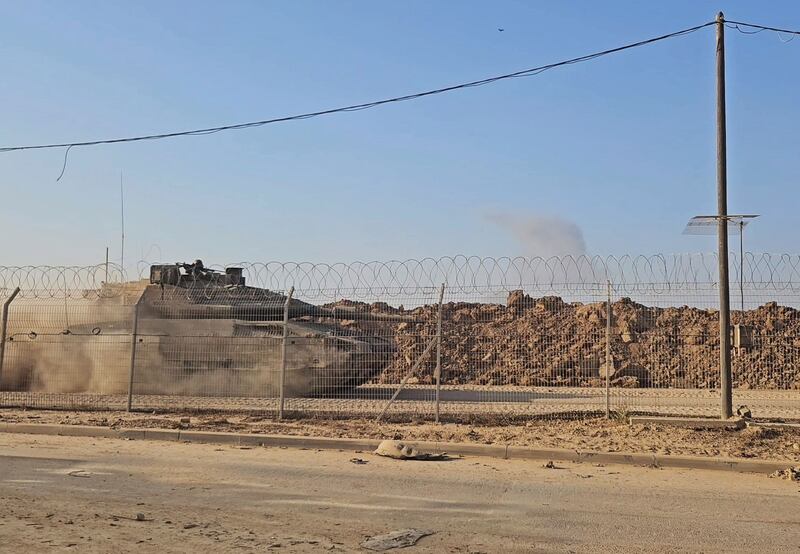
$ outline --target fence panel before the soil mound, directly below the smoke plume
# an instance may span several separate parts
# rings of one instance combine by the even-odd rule
[[[605,285],[446,295],[443,414],[575,416],[604,409]]]

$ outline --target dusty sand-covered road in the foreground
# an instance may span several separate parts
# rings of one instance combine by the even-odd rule
[[[797,483],[559,465],[0,435],[0,550],[360,552],[417,527],[410,552],[800,551]]]

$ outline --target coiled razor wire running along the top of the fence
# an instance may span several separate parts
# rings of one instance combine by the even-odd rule
[[[670,294],[715,287],[714,253],[620,256],[478,257],[447,256],[350,263],[238,262],[208,269],[239,267],[249,287],[288,290],[315,298],[392,298],[442,283],[452,293],[525,289],[581,294],[607,282],[621,294]],[[126,293],[120,284],[147,279],[150,262],[133,270],[118,264],[91,266],[0,266],[0,296],[16,287],[21,298],[113,297]],[[731,253],[732,283],[748,290],[795,291],[800,287],[800,255],[746,253],[740,264]],[[741,267],[741,270],[740,270]],[[117,285],[117,286],[114,286]]]

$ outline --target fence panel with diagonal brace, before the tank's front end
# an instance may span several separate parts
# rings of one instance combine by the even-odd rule
[[[433,413],[435,348],[426,347],[436,338],[436,287],[385,288],[381,294],[310,289],[297,295],[321,308],[313,324],[327,337],[316,345],[319,354],[310,369],[303,348],[290,341],[288,373],[304,386],[290,392],[287,409],[369,417],[384,409],[388,416]]]

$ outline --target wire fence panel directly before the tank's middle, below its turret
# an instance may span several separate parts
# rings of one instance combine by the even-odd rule
[[[250,287],[147,287],[138,302],[132,407],[276,410],[285,304],[282,292]]]

